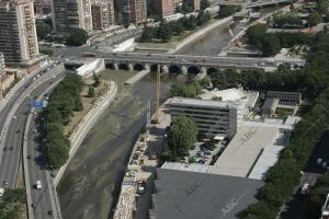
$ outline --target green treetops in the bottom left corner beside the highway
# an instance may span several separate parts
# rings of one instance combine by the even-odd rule
[[[5,189],[0,198],[1,219],[18,219],[23,205],[26,203],[25,189]]]

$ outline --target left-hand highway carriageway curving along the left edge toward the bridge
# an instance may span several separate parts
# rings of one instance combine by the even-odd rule
[[[58,74],[63,71],[61,67],[55,68],[42,76],[38,80],[26,81],[16,94],[11,100],[11,103],[8,104],[0,114],[1,123],[1,132],[3,132],[5,120],[9,118],[10,124],[8,131],[3,132],[2,138],[2,151],[1,153],[1,164],[0,164],[0,186],[14,188],[16,186],[16,178],[19,172],[20,158],[22,152],[22,138],[23,138],[23,128],[25,122],[31,111],[31,100],[30,97],[38,96],[44,90],[49,87],[49,83],[58,80],[57,78],[52,78],[55,74]],[[33,83],[32,83],[33,82]],[[29,88],[29,85],[31,85]],[[19,99],[24,97],[29,91],[33,90],[30,93],[30,97],[23,99],[22,103],[19,103]],[[15,112],[13,106],[18,105]],[[14,116],[11,117],[11,113],[14,113]]]

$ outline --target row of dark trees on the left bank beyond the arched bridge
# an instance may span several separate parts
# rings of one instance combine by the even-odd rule
[[[185,31],[192,31],[197,26],[202,26],[211,20],[209,13],[201,11],[195,18],[182,18],[178,21],[161,21],[158,27],[145,26],[139,38],[141,43],[162,42],[168,43],[172,36],[180,36]]]

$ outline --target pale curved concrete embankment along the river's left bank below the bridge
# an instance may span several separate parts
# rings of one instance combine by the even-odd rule
[[[83,117],[82,122],[78,125],[78,128],[75,132],[71,134],[69,140],[71,142],[71,148],[69,151],[69,159],[67,162],[58,170],[54,185],[57,186],[65,170],[67,169],[70,160],[75,157],[79,147],[81,146],[86,135],[102,115],[102,113],[107,108],[107,106],[112,103],[117,93],[117,85],[114,81],[110,82],[110,90],[105,95],[101,96],[98,102],[94,104],[94,107],[91,108],[87,115]]]

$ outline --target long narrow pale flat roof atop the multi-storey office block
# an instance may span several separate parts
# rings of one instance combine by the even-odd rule
[[[205,101],[201,99],[185,99],[185,97],[172,97],[168,102],[168,104],[172,105],[189,105],[189,106],[206,106],[206,107],[227,107],[231,106],[230,103],[220,102],[220,101]]]

